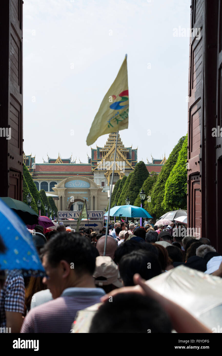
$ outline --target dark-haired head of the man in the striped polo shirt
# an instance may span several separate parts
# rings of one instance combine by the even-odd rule
[[[88,287],[93,283],[95,253],[89,240],[77,232],[61,232],[48,241],[41,250],[42,265],[52,297],[58,298],[69,287]]]

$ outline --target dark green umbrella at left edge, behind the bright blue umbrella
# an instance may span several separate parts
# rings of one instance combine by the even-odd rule
[[[1,199],[10,209],[20,216],[26,225],[38,224],[38,214],[30,208],[29,205],[23,203],[23,201],[9,197],[2,197]]]

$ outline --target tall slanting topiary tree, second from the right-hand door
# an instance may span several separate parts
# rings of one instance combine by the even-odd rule
[[[172,150],[172,152],[170,153],[169,158],[167,159],[164,166],[162,166],[161,171],[158,175],[158,179],[151,190],[151,202],[148,203],[147,208],[149,213],[154,218],[155,217],[159,218],[162,214],[166,212],[165,209],[162,207],[166,180],[176,164],[179,152],[182,148],[185,138],[186,136],[181,137],[178,143],[176,144],[176,146],[174,147],[174,149]]]

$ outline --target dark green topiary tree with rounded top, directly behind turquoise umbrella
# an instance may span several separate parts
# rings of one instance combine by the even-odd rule
[[[123,201],[125,202],[127,196],[129,196],[130,204],[133,205],[138,193],[140,192],[141,186],[148,177],[149,172],[145,166],[145,163],[143,161],[139,161],[135,166],[128,188],[125,191]]]

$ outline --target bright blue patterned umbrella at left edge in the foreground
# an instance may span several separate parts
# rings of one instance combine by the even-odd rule
[[[0,269],[20,269],[24,276],[45,274],[32,235],[1,199],[0,236],[6,247],[5,253],[0,253]]]

